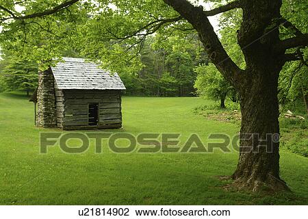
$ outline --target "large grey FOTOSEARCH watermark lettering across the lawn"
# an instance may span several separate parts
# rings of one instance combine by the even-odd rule
[[[94,141],[93,144],[91,142]],[[246,144],[240,144],[240,142]],[[88,151],[94,145],[94,153],[103,153],[106,147],[113,153],[259,153],[266,150],[272,153],[274,144],[279,142],[279,134],[245,133],[228,136],[224,133],[211,133],[206,139],[197,133],[187,138],[181,133],[140,133],[126,132],[41,132],[40,153],[46,154],[54,146],[60,146],[64,153],[78,154]],[[244,146],[240,146],[244,145]]]

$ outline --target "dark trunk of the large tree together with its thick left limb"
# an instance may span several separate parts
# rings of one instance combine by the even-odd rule
[[[235,180],[232,185],[253,191],[263,188],[288,190],[279,177],[278,77],[286,62],[285,49],[307,44],[307,34],[290,40],[279,39],[280,23],[277,21],[281,18],[281,0],[240,0],[233,6],[243,10],[238,31],[238,44],[246,62],[246,69],[242,70],[222,47],[202,7],[187,0],[164,1],[198,31],[211,62],[239,92],[242,110],[240,158],[232,175]]]

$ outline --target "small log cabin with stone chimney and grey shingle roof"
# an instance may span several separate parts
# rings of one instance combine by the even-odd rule
[[[38,127],[110,129],[122,127],[121,94],[125,86],[116,73],[81,58],[39,72],[30,101],[37,104]]]

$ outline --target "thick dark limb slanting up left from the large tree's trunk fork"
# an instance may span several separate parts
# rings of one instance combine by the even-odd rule
[[[222,75],[228,79],[233,86],[238,86],[239,77],[242,77],[242,70],[231,60],[227,52],[222,47],[218,36],[209,19],[202,8],[194,7],[187,0],[164,0],[165,3],[175,9],[183,18],[185,18],[198,32],[205,51],[209,54],[211,62]],[[232,7],[231,7],[232,8]],[[225,9],[224,9],[225,10]],[[223,10],[220,10],[223,11]]]

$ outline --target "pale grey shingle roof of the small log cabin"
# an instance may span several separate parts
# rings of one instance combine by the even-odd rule
[[[59,62],[51,67],[57,88],[62,90],[125,90],[118,74],[111,74],[98,68],[97,64],[85,62],[81,58],[63,57],[65,62]]]

